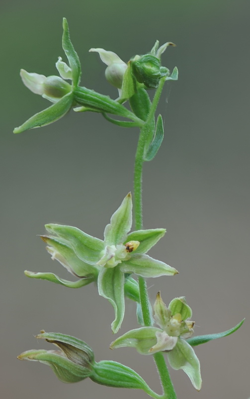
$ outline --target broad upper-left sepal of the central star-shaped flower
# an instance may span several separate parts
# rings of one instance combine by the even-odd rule
[[[96,264],[100,259],[100,252],[104,249],[104,242],[99,238],[92,237],[73,226],[46,224],[45,228],[48,232],[69,241],[76,255],[84,262]]]

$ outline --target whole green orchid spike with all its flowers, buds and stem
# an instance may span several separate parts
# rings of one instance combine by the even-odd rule
[[[54,273],[25,271],[26,276],[44,279],[70,288],[80,288],[96,282],[98,294],[106,298],[114,309],[113,333],[118,333],[125,313],[126,296],[137,304],[137,320],[141,326],[116,338],[111,349],[134,347],[142,355],[155,359],[163,394],[155,393],[134,370],[113,361],[94,361],[94,352],[84,341],[61,333],[41,331],[37,338],[57,346],[57,350],[30,350],[18,356],[20,360],[38,361],[49,365],[65,383],[75,383],[89,377],[93,382],[116,388],[144,390],[152,398],[176,399],[168,373],[167,361],[174,370],[182,369],[196,390],[201,389],[200,363],[193,347],[225,337],[241,327],[244,320],[223,333],[195,336],[192,310],[185,297],[170,301],[168,307],[160,292],[151,307],[146,279],[173,276],[177,270],[164,261],[154,259],[147,252],[161,238],[164,228],[143,229],[142,171],[143,163],[153,160],[164,137],[162,116],[155,117],[163,86],[167,80],[177,80],[178,70],[161,64],[161,56],[172,42],[159,47],[156,41],[148,54],[136,55],[128,63],[112,51],[91,48],[107,65],[105,76],[118,89],[118,98],[111,99],[80,86],[81,65],[70,40],[66,18],[63,20],[63,49],[69,65],[59,57],[56,68],[60,76],[39,75],[21,70],[23,83],[35,94],[53,104],[29,118],[14,133],[48,125],[63,117],[71,108],[76,112],[96,112],[121,127],[140,129],[134,170],[134,216],[132,226],[132,194],[122,200],[104,229],[104,239],[96,238],[77,227],[47,224],[48,235],[41,235],[52,259],[59,261],[77,281],[60,278]],[[71,84],[67,82],[71,81]],[[151,101],[148,90],[155,89]],[[130,110],[124,106],[128,103]],[[108,115],[109,114],[109,115]],[[114,115],[116,118],[114,118]],[[123,119],[120,119],[123,118]],[[125,120],[124,120],[125,119]],[[138,276],[136,278],[132,277]],[[154,323],[158,327],[154,326]]]

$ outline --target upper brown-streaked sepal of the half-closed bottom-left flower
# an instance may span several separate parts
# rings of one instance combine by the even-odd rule
[[[41,331],[40,334],[36,335],[36,338],[45,339],[47,342],[58,346],[65,353],[67,358],[74,363],[89,367],[89,364],[94,360],[92,348],[84,341],[72,335]]]

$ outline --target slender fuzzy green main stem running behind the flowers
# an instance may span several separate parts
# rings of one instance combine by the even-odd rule
[[[134,169],[134,209],[135,209],[135,228],[136,230],[140,230],[143,227],[143,214],[142,214],[142,172],[143,172],[143,155],[145,142],[149,135],[153,137],[152,134],[152,119],[154,118],[156,108],[163,90],[163,86],[165,83],[165,78],[160,80],[160,84],[155,93],[152,106],[150,109],[149,116],[145,125],[141,128],[140,136],[137,145],[136,157],[135,157],[135,169]],[[139,276],[139,290],[140,290],[140,303],[142,308],[142,315],[145,326],[151,326],[151,314],[150,314],[150,305],[149,305],[149,297],[147,290],[147,283],[143,277]],[[154,396],[151,393],[153,398],[161,398],[161,399],[177,399],[169,373],[167,369],[167,365],[164,359],[164,356],[161,352],[158,352],[154,355],[154,360],[159,372],[159,376],[161,379],[163,392],[162,396],[155,394]],[[149,393],[150,395],[150,393]]]

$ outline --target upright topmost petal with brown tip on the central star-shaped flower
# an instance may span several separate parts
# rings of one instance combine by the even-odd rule
[[[105,244],[121,244],[127,237],[132,225],[132,196],[129,193],[119,208],[112,214],[110,223],[104,230]]]

